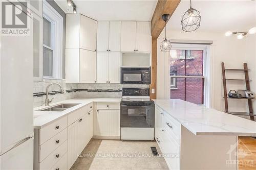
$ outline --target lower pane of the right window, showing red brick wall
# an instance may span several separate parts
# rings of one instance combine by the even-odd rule
[[[203,78],[175,78],[177,87],[170,87],[170,99],[181,99],[195,104],[204,104]]]

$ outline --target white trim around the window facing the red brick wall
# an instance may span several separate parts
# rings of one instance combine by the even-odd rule
[[[204,45],[204,44],[172,44],[172,50],[203,50],[204,51],[204,72],[203,72],[203,77],[197,76],[198,78],[205,78],[204,79],[204,106],[207,108],[211,108],[212,106],[212,48],[211,45]],[[169,63],[169,57],[170,53],[167,55],[168,57],[166,58],[165,63]],[[165,64],[165,71],[169,72],[169,64]],[[177,76],[172,76],[176,77]],[[183,76],[184,77],[184,76]],[[186,77],[186,76],[185,76]],[[191,77],[191,76],[190,76]],[[165,84],[165,99],[170,98],[170,75],[166,74],[165,79],[167,80]]]

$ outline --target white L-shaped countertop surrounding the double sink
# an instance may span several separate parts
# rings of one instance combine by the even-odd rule
[[[121,98],[74,98],[61,102],[52,103],[49,106],[40,106],[34,108],[34,128],[40,129],[55,120],[72,113],[73,111],[86,106],[92,102],[110,102],[110,103],[120,103]],[[78,104],[74,107],[71,107],[64,111],[40,111],[40,109],[49,108],[51,106],[55,106],[61,103],[70,103],[70,104]]]

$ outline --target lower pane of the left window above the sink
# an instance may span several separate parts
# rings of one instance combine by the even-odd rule
[[[44,76],[52,77],[53,57],[52,50],[44,47]]]

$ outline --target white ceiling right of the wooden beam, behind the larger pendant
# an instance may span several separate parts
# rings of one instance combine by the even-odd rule
[[[248,31],[256,27],[256,1],[192,1],[192,7],[201,13],[197,31]],[[181,30],[181,18],[189,8],[182,0],[167,24],[171,30]]]

